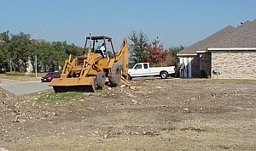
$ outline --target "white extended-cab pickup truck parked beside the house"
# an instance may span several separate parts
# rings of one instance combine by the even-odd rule
[[[148,63],[138,63],[128,70],[128,76],[131,80],[133,77],[141,76],[160,76],[162,79],[166,79],[169,75],[175,73],[175,66],[168,67],[154,67],[150,68]]]

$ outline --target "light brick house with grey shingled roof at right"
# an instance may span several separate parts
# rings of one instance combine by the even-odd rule
[[[231,25],[177,53],[183,77],[256,79],[256,20]]]

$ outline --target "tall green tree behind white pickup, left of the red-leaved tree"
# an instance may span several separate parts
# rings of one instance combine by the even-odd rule
[[[136,32],[131,31],[131,35],[128,36],[132,44],[130,45],[130,61],[133,64],[144,62],[150,55],[147,50],[148,37],[143,33],[143,31]]]

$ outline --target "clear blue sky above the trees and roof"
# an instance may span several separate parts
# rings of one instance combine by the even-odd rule
[[[84,37],[142,30],[165,48],[189,46],[227,25],[256,20],[256,0],[1,0],[0,32],[84,46]],[[45,31],[45,34],[42,33]]]

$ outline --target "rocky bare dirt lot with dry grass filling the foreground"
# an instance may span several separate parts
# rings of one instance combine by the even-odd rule
[[[0,148],[256,150],[256,81],[135,79],[91,93],[1,90]]]

